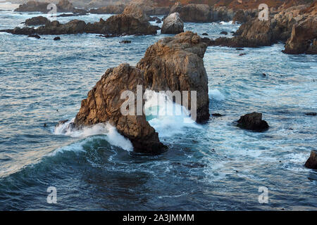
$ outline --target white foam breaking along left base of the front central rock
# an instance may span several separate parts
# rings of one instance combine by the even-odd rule
[[[115,127],[111,124],[96,124],[92,127],[84,127],[82,129],[72,129],[70,123],[74,122],[70,120],[64,124],[59,125],[54,129],[54,134],[67,135],[72,137],[85,138],[87,136],[105,135],[106,141],[113,146],[118,146],[124,150],[133,150],[132,143],[124,136],[118,133]]]

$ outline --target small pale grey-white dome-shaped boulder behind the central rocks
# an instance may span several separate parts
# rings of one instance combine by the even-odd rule
[[[162,34],[179,34],[181,32],[184,32],[184,23],[180,19],[180,14],[172,13],[163,20]]]

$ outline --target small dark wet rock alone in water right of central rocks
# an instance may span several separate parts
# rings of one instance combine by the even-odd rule
[[[268,123],[262,120],[262,113],[249,113],[240,117],[237,121],[237,127],[250,129],[254,131],[263,131],[268,129]]]

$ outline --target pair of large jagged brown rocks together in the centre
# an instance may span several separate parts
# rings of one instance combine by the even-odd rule
[[[203,57],[206,44],[193,32],[166,37],[150,46],[137,67],[121,64],[101,77],[82,101],[74,121],[75,129],[109,122],[119,133],[130,139],[134,150],[142,153],[161,153],[166,149],[145,115],[125,115],[121,108],[126,99],[123,91],[137,94],[137,85],[154,91],[197,91],[197,121],[209,119],[207,75]],[[189,93],[189,108],[191,95]],[[130,98],[129,98],[130,100]],[[137,98],[132,101],[137,105]],[[142,100],[142,106],[144,101]],[[124,107],[125,108],[125,107]]]

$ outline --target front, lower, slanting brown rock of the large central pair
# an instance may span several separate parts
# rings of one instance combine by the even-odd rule
[[[166,149],[159,141],[155,129],[147,122],[145,115],[123,115],[120,99],[123,91],[133,91],[136,95],[137,85],[142,85],[144,94],[144,72],[129,64],[111,68],[101,77],[96,86],[89,91],[82,101],[79,113],[75,117],[75,127],[91,126],[109,122],[120,134],[130,139],[137,152],[161,153]],[[137,105],[137,99],[135,99]]]

